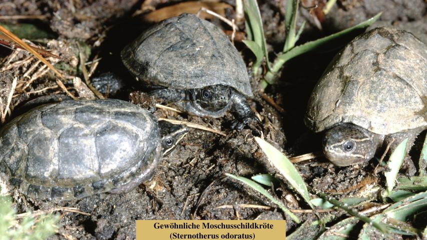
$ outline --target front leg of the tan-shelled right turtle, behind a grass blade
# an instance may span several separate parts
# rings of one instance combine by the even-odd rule
[[[406,137],[408,138],[408,142],[406,145],[406,153],[405,158],[403,160],[401,170],[408,176],[413,176],[416,172],[415,165],[413,164],[412,159],[409,156],[410,148],[415,141],[415,138],[419,132],[415,129],[409,131],[400,131],[393,134],[389,134],[384,138],[384,145],[390,145],[389,151],[387,153],[388,156],[396,149],[396,147],[402,142]]]

